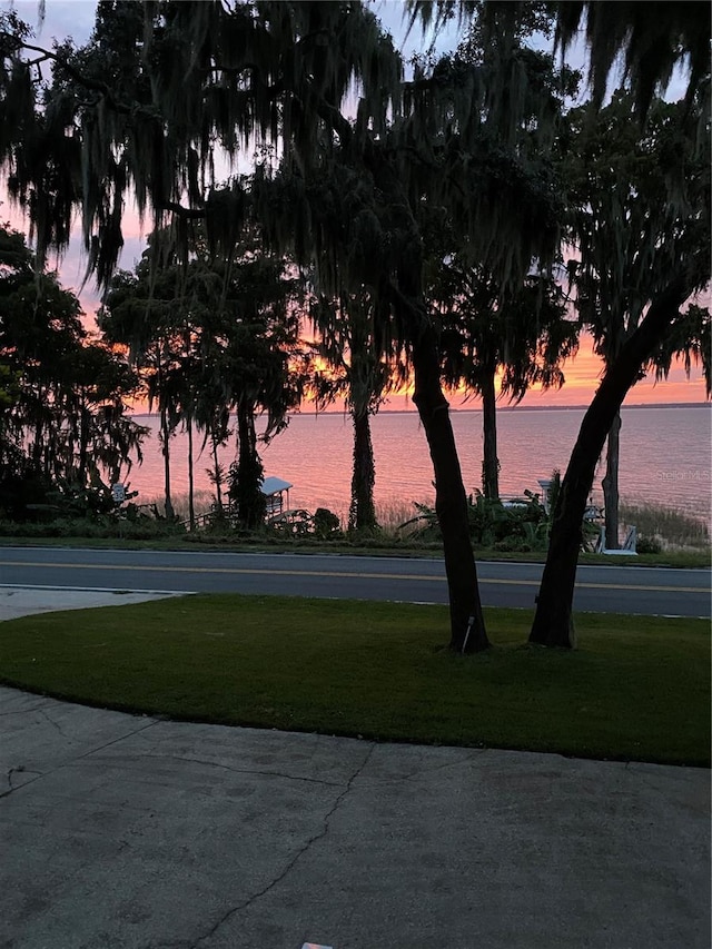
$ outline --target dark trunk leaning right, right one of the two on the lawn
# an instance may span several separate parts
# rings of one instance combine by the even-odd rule
[[[635,333],[623,344],[620,354],[605,370],[584,415],[556,502],[536,614],[530,633],[531,643],[565,649],[575,645],[573,599],[581,525],[596,463],[623,399],[640,378],[642,367],[663,340],[688,296],[689,289],[682,278],[675,279],[660,294]]]

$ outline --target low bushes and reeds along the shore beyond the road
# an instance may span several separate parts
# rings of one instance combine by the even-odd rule
[[[556,473],[555,473],[556,474]],[[553,478],[552,484],[556,485]],[[187,500],[177,497],[174,516],[161,515],[161,500],[137,503],[138,492],[120,502],[108,490],[65,493],[46,503],[24,505],[22,511],[0,506],[0,541],[36,542],[86,540],[160,542],[227,545],[268,544],[313,550],[315,545],[368,551],[404,551],[432,555],[441,551],[442,537],[435,507],[427,502],[393,503],[377,510],[375,528],[347,531],[338,514],[326,507],[314,513],[290,511],[273,523],[246,531],[236,525],[229,510],[216,510],[209,492],[196,496],[196,528],[189,531]],[[551,510],[555,496],[542,503],[538,494],[524,492],[508,500],[484,497],[476,491],[468,497],[469,534],[477,555],[526,555],[543,558],[548,545]],[[709,565],[710,530],[701,517],[661,504],[623,501],[622,528],[635,526],[637,553],[642,557],[671,554],[696,555],[698,565]],[[595,520],[583,524],[583,551],[594,551],[599,536]],[[640,558],[636,558],[639,561]]]

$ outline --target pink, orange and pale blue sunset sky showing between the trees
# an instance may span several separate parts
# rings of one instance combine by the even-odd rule
[[[38,45],[50,46],[52,38],[63,39],[72,36],[77,42],[88,39],[93,26],[95,2],[92,0],[47,0],[47,12],[43,24],[37,26]],[[1,10],[13,8],[18,14],[31,24],[37,24],[38,8],[37,0],[20,0],[10,3],[8,0],[0,2]],[[402,4],[398,0],[382,0],[374,4],[374,9],[382,17],[388,29],[394,34],[398,33],[400,23]],[[414,30],[408,43],[417,43],[419,33]],[[26,223],[13,210],[3,204],[1,218],[9,219],[20,230],[26,230]],[[144,235],[140,231],[138,218],[127,215],[123,224],[125,249],[120,266],[131,269],[138,261],[144,248]],[[95,313],[97,307],[97,295],[88,285],[80,290],[83,278],[85,261],[81,257],[79,241],[75,241],[63,260],[52,263],[57,266],[62,284],[79,293],[82,307],[88,316]],[[710,305],[709,294],[700,300],[702,305]],[[587,404],[600,382],[601,362],[592,353],[591,340],[584,337],[581,343],[578,355],[564,368],[566,383],[558,392],[531,392],[523,404],[527,406],[545,405],[585,405]],[[674,367],[666,382],[653,384],[653,378],[646,378],[631,389],[625,401],[626,405],[656,404],[671,402],[703,402],[705,399],[704,380],[700,367],[693,369],[691,378],[685,377],[682,366]],[[453,406],[458,404],[456,398],[452,399]],[[472,401],[466,403],[471,407],[477,405]],[[413,408],[407,397],[392,397],[386,408]]]

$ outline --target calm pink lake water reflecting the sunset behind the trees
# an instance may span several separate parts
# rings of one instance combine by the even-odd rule
[[[537,480],[554,468],[562,474],[573,448],[584,409],[514,408],[498,413],[501,492],[538,491]],[[621,496],[626,502],[666,504],[694,513],[708,523],[711,498],[712,425],[706,405],[623,408],[621,429]],[[482,412],[452,413],[453,427],[467,491],[481,485]],[[128,483],[139,491],[138,503],[162,495],[162,456],[156,416],[136,416],[152,436],[145,446],[144,464]],[[376,462],[377,505],[403,506],[433,500],[433,469],[425,434],[415,412],[382,412],[372,419]],[[198,447],[200,439],[196,439]],[[294,485],[290,507],[328,507],[347,515],[352,474],[350,419],[339,413],[304,413],[291,416],[287,429],[260,447],[265,475]],[[172,492],[187,493],[187,438],[177,433],[171,442]],[[235,456],[234,444],[222,452],[226,465]],[[196,488],[210,491],[206,448],[195,464]],[[600,464],[594,498],[601,500]]]

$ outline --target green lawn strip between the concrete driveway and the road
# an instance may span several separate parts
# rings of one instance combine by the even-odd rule
[[[710,762],[710,625],[580,614],[574,652],[453,655],[447,610],[198,595],[0,624],[0,681],[175,719],[392,741]]]

